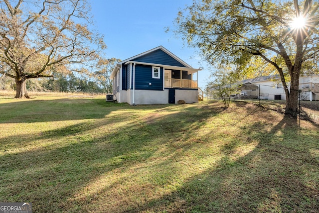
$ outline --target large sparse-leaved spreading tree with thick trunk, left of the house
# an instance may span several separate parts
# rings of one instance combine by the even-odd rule
[[[27,79],[98,57],[106,46],[91,20],[87,0],[0,0],[0,74],[15,79],[15,98],[28,97]]]

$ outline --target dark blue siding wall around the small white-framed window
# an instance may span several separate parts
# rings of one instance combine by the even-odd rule
[[[163,68],[160,67],[160,78],[154,79],[152,78],[152,66],[137,64],[135,66],[135,89],[163,90]]]

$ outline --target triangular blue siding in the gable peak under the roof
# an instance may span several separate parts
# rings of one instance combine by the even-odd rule
[[[183,64],[181,64],[180,62],[178,62],[173,57],[169,56],[167,53],[160,49],[153,51],[147,55],[135,58],[134,61],[185,67]]]

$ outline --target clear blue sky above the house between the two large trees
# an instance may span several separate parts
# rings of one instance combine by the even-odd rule
[[[196,49],[183,45],[181,38],[166,27],[173,28],[177,12],[192,0],[91,0],[95,27],[104,35],[108,48],[106,58],[130,58],[158,46],[163,46],[198,73],[198,85],[204,88],[210,71],[196,54]]]

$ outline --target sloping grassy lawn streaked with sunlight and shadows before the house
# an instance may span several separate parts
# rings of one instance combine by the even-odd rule
[[[296,123],[282,104],[32,98],[0,96],[0,202],[35,213],[319,212],[319,124]]]

